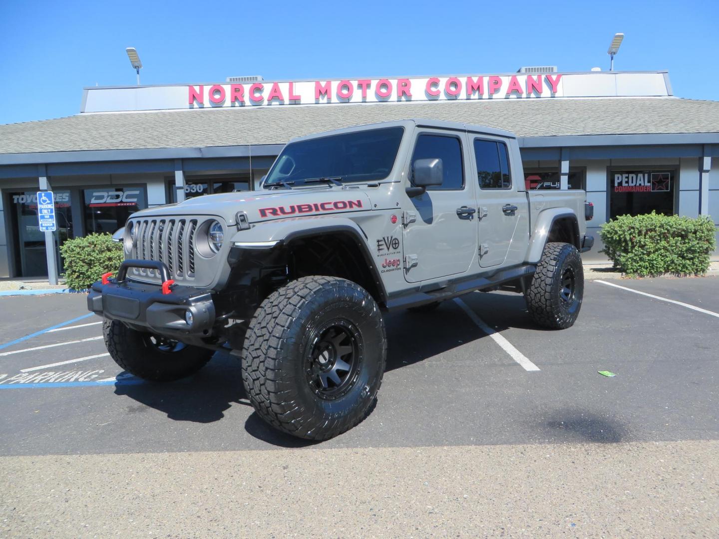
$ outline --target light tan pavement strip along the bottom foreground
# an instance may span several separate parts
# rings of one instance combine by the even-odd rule
[[[0,535],[717,537],[719,443],[0,457]]]

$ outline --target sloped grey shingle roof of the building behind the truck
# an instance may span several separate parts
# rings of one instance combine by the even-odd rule
[[[283,144],[329,129],[418,116],[506,129],[518,137],[719,133],[719,101],[667,97],[247,106],[0,125],[0,154]]]

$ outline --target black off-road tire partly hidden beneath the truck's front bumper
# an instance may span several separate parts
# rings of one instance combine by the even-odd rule
[[[124,323],[104,321],[102,333],[112,359],[130,374],[151,382],[171,382],[193,374],[210,360],[211,350],[158,340]]]

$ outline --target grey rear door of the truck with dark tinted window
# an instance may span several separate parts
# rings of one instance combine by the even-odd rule
[[[529,234],[529,208],[523,178],[512,175],[505,139],[470,134],[477,174],[477,226],[480,267],[519,264]],[[514,160],[515,167],[521,164]],[[522,190],[518,190],[521,188]]]

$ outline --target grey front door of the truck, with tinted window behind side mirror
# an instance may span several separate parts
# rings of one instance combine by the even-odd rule
[[[442,185],[409,198],[404,212],[404,267],[408,282],[467,272],[477,253],[474,182],[466,180],[469,152],[464,134],[418,130],[408,178],[419,159],[442,161]]]

